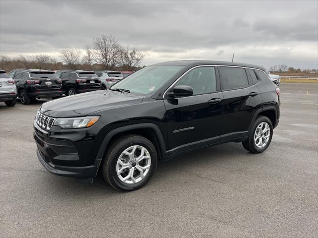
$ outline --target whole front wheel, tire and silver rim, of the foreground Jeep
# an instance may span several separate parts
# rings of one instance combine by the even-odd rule
[[[157,167],[154,144],[139,135],[126,135],[109,147],[102,165],[104,179],[121,191],[132,191],[144,186]]]

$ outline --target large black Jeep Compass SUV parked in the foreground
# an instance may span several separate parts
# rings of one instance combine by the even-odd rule
[[[119,190],[153,176],[157,161],[192,149],[242,142],[269,146],[279,88],[263,67],[220,61],[147,66],[109,90],[46,102],[34,119],[37,156],[51,173],[92,181],[100,168]]]

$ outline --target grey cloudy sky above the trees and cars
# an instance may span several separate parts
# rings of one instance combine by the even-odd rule
[[[318,68],[318,0],[0,0],[0,53],[50,54],[112,34],[167,60],[226,60]]]

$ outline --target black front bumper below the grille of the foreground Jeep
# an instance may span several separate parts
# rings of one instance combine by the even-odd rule
[[[33,121],[33,137],[37,145],[37,157],[41,164],[49,172],[59,176],[73,177],[78,179],[94,178],[97,175],[101,158],[94,159],[89,163],[88,154],[92,147],[90,140],[81,140],[83,133],[55,134],[43,130]],[[75,138],[70,140],[71,136]]]

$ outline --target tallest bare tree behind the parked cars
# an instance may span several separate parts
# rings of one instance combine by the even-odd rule
[[[119,63],[121,46],[112,35],[101,35],[93,39],[94,59],[101,63],[104,69],[113,70]]]

